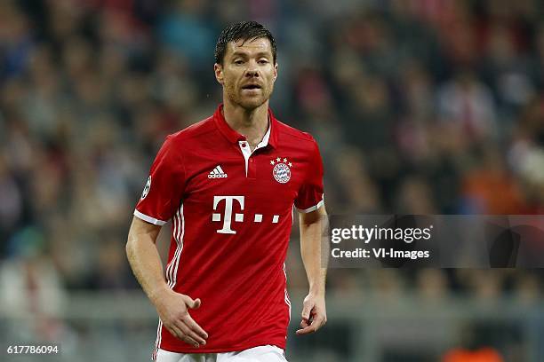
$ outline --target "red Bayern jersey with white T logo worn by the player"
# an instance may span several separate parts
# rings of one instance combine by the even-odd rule
[[[172,219],[165,277],[178,293],[200,298],[191,316],[208,333],[195,348],[159,321],[156,348],[217,353],[273,344],[285,347],[291,303],[284,261],[293,205],[323,205],[323,164],[308,133],[276,120],[250,150],[225,121],[212,117],[166,138],[134,215]]]

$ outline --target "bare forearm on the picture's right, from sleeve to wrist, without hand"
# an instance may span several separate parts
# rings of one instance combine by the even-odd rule
[[[309,292],[313,295],[324,295],[326,264],[322,265],[321,237],[326,222],[324,210],[316,216],[300,218],[300,254],[308,276]]]

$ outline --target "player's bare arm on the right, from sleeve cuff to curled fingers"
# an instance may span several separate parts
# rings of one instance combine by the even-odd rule
[[[308,213],[300,213],[300,254],[308,276],[309,293],[304,298],[302,321],[297,334],[310,334],[327,321],[325,308],[326,265],[321,264],[321,238],[327,214],[324,205]]]

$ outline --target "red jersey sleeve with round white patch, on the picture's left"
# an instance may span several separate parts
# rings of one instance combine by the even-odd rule
[[[185,168],[172,137],[164,141],[149,171],[134,216],[151,224],[164,225],[180,206],[185,190]]]

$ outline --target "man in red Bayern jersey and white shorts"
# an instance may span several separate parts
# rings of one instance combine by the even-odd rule
[[[277,63],[267,28],[225,28],[215,62],[223,104],[166,138],[134,211],[127,255],[160,317],[156,361],[285,361],[293,205],[309,282],[297,334],[326,321],[321,156],[311,136],[268,109]],[[164,276],[156,237],[171,218]]]

